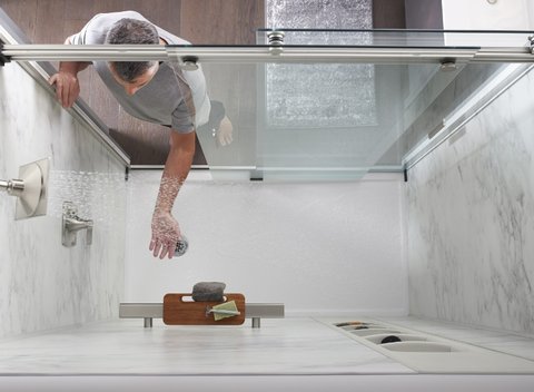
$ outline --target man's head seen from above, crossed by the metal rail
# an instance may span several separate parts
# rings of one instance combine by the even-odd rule
[[[106,36],[110,45],[159,43],[156,28],[144,20],[123,18],[117,21]],[[109,68],[117,82],[132,95],[148,84],[158,70],[157,61],[110,61]]]

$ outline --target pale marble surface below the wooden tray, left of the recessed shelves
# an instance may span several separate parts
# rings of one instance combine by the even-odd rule
[[[243,326],[92,323],[0,341],[8,374],[406,374],[394,360],[310,317]]]

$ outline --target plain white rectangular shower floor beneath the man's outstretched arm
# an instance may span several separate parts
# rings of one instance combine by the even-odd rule
[[[126,301],[161,302],[220,281],[247,302],[281,302],[288,315],[407,313],[402,176],[353,183],[214,182],[192,171],[174,214],[186,255],[148,251],[160,170],[128,180]]]

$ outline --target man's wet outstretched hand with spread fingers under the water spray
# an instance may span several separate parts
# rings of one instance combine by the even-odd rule
[[[152,239],[150,241],[150,251],[154,256],[159,256],[161,259],[166,256],[172,258],[179,238],[180,227],[172,215],[156,212],[152,216]]]

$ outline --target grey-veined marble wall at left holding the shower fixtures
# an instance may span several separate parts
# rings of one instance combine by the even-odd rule
[[[49,213],[14,220],[0,194],[0,337],[118,315],[123,291],[125,164],[18,63],[0,67],[0,178],[51,158]],[[61,204],[95,220],[92,245],[61,245]]]

